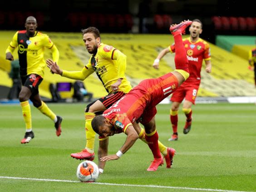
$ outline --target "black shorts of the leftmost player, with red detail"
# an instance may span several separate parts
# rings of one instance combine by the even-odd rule
[[[33,95],[39,93],[38,86],[43,81],[43,78],[38,74],[30,74],[27,76],[20,77],[23,86],[30,89]]]

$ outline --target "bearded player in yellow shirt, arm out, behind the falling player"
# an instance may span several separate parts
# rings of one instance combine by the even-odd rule
[[[95,132],[91,122],[93,118],[102,114],[113,103],[127,94],[131,89],[130,82],[126,79],[126,55],[113,46],[103,44],[100,39],[99,30],[95,27],[89,27],[82,30],[84,44],[87,51],[92,54],[89,63],[81,71],[66,71],[59,69],[56,62],[47,59],[47,67],[52,73],[59,74],[69,79],[84,80],[90,74],[96,73],[108,95],[99,98],[93,103],[89,103],[84,111],[86,147],[79,153],[72,153],[71,157],[76,159],[94,160],[94,140]],[[139,138],[145,141],[145,132],[142,128]],[[102,138],[103,140],[106,138]],[[101,138],[100,138],[101,140]],[[159,142],[159,149],[164,156],[167,156],[167,147]],[[101,170],[102,171],[102,170]]]

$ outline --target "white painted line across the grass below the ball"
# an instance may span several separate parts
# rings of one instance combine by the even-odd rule
[[[3,177],[3,176],[0,176],[0,178],[4,178],[4,179],[23,179],[23,180],[33,180],[33,181],[50,181],[50,182],[79,182],[79,181],[71,181],[71,180],[38,179],[38,178],[24,178],[24,177]],[[118,183],[104,183],[104,182],[89,182],[88,184],[126,186],[126,187],[152,187],[152,188],[168,188],[168,189],[187,189],[187,190],[211,191],[211,192],[245,192],[245,191],[232,191],[232,190],[222,190],[222,189],[204,189],[204,188],[192,188],[192,187],[171,187],[171,186],[161,186],[161,185],[132,185],[132,184],[118,184]]]

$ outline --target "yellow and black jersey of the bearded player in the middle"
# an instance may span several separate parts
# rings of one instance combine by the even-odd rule
[[[113,92],[111,85],[116,83],[119,78],[122,78],[119,91],[128,93],[132,86],[126,79],[125,69],[126,55],[113,46],[100,43],[97,54],[90,57],[88,64],[82,71],[63,70],[62,76],[70,79],[84,80],[95,72],[109,94]]]

